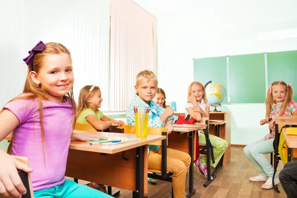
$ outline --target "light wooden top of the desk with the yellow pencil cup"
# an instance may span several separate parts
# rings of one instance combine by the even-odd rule
[[[136,138],[136,134],[122,134],[122,133],[108,133],[108,132],[86,132],[86,131],[78,131],[78,130],[74,130],[74,132],[75,133],[94,133],[94,134],[97,133],[97,134],[105,136],[107,138],[113,138],[113,137]],[[166,139],[166,136],[148,135],[146,138],[141,138],[141,140],[139,140],[139,141],[117,144],[117,145],[101,145],[101,144],[90,145],[90,143],[88,143],[88,142],[71,141],[69,148],[76,149],[76,150],[113,154],[113,153],[131,149],[131,148],[148,145],[150,143],[164,140],[164,139]]]

